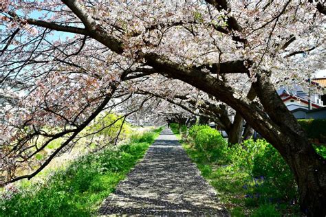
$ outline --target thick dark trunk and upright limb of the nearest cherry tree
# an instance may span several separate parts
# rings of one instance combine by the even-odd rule
[[[279,98],[268,76],[258,76],[255,89],[266,112],[282,132],[279,137],[274,138],[263,131],[259,133],[271,144],[278,143],[274,147],[290,165],[298,184],[301,211],[308,216],[325,216],[325,159],[316,153],[304,130]]]

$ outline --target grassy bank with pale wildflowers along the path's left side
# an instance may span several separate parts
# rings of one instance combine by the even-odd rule
[[[129,144],[73,161],[43,184],[12,187],[0,199],[0,216],[91,216],[115,190],[162,128],[131,136]]]

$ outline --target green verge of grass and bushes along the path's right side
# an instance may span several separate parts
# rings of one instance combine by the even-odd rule
[[[232,216],[301,215],[294,176],[265,140],[230,148],[217,130],[193,126],[181,142]],[[320,146],[317,152],[326,158],[325,150]]]

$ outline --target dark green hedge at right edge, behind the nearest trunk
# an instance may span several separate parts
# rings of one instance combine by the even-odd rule
[[[320,142],[326,143],[326,119],[299,119],[298,123],[309,138],[319,139]]]

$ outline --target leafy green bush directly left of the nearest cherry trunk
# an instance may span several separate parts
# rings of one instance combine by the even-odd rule
[[[298,197],[294,176],[279,152],[267,141],[249,139],[228,148],[228,160],[234,170],[246,172],[246,204],[257,206],[270,202],[290,203]]]

